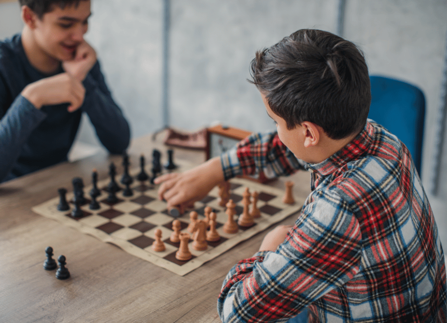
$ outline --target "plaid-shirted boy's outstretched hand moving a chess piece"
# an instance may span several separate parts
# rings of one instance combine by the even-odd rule
[[[219,157],[183,173],[165,174],[155,178],[160,184],[158,198],[166,200],[168,207],[183,207],[205,197],[217,184],[224,181],[224,172]]]

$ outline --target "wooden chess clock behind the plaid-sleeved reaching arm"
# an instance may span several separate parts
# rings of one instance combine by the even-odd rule
[[[249,131],[223,126],[220,124],[217,126],[207,128],[207,139],[206,139],[207,160],[216,156],[221,156],[221,154],[231,149],[239,141],[245,139],[249,135],[251,135],[251,132]],[[275,179],[275,178],[267,178],[264,172],[262,171],[257,176],[242,176],[242,177],[255,180],[260,183],[267,183]]]

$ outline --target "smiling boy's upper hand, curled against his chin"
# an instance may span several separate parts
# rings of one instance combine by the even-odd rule
[[[62,62],[62,68],[76,80],[82,82],[95,63],[96,52],[84,41],[77,46],[73,60]]]

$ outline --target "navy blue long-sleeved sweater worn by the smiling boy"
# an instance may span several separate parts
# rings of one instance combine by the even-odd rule
[[[110,153],[120,154],[129,146],[129,124],[98,62],[83,81],[82,106],[72,113],[68,104],[36,109],[20,94],[29,83],[50,76],[31,66],[19,34],[0,42],[0,182],[67,161],[83,112]]]

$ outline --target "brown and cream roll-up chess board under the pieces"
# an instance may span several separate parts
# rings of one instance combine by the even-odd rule
[[[180,163],[180,168],[176,171],[183,171],[189,167],[185,163]],[[129,171],[134,178],[138,172],[139,169],[131,169]],[[120,177],[121,175],[116,176],[118,183]],[[293,205],[284,204],[282,202],[284,190],[248,179],[233,178],[230,180],[230,198],[236,203],[235,220],[237,221],[237,215],[240,215],[243,210],[242,194],[245,187],[248,187],[250,192],[257,191],[259,193],[257,207],[261,211],[261,217],[255,219],[255,224],[251,227],[239,227],[239,231],[235,234],[224,233],[222,227],[228,216],[225,214],[225,208],[219,206],[219,192],[218,188],[215,187],[204,199],[195,203],[194,210],[199,214],[199,219],[204,219],[205,207],[210,206],[213,208],[217,215],[216,228],[221,239],[218,242],[208,242],[208,247],[204,251],[194,250],[191,247],[193,241],[190,240],[189,250],[193,256],[190,260],[180,261],[175,258],[179,243],[169,241],[173,232],[172,221],[178,219],[181,222],[181,232],[187,232],[187,227],[190,223],[190,211],[178,218],[171,217],[166,208],[166,203],[157,199],[158,187],[151,185],[148,181],[139,182],[134,180],[131,186],[133,196],[123,196],[121,190],[116,194],[118,201],[116,203],[108,203],[106,201],[108,196],[106,187],[109,182],[110,179],[105,179],[97,184],[98,188],[101,189],[101,195],[97,198],[100,205],[98,210],[89,209],[88,192],[92,185],[84,188],[87,203],[81,206],[83,215],[79,218],[71,216],[71,210],[74,208],[74,204],[71,202],[73,199],[72,191],[67,193],[67,200],[70,201],[70,210],[57,210],[59,203],[59,197],[57,196],[33,207],[33,211],[75,228],[84,234],[96,237],[103,242],[113,243],[134,256],[181,276],[224,253],[237,243],[245,241],[291,214],[297,213],[301,209],[303,202],[297,201]],[[120,185],[123,186],[122,184]],[[151,249],[156,229],[161,229],[162,241],[166,246],[165,251],[155,252]]]

